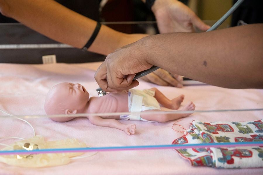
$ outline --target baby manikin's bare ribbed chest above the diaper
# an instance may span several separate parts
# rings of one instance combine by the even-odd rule
[[[88,111],[89,113],[128,112],[128,91],[110,92],[102,97],[91,97]],[[119,119],[120,116],[102,118]]]

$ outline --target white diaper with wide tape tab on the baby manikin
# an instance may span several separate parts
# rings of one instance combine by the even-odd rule
[[[134,112],[131,115],[120,115],[121,120],[142,120],[149,121],[141,118],[139,112],[146,110],[160,110],[158,101],[154,98],[155,92],[153,90],[144,89],[130,89],[128,92],[128,107],[129,112]]]

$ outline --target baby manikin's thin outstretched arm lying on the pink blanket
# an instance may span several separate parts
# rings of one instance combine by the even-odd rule
[[[89,121],[93,125],[120,129],[122,131],[125,131],[126,134],[128,135],[135,133],[136,125],[134,124],[124,125],[115,119],[103,119],[99,116],[89,116]]]

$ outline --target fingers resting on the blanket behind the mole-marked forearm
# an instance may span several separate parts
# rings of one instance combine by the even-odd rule
[[[178,88],[183,87],[182,76],[176,74],[170,74],[168,71],[161,68],[146,76],[141,77],[141,79],[162,86],[174,86]]]

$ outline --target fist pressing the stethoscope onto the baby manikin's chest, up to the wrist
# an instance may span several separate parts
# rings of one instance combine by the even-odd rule
[[[142,52],[142,40],[131,43],[110,53],[95,73],[95,80],[106,92],[120,92],[139,85],[133,81],[136,73],[149,69],[147,52]]]

